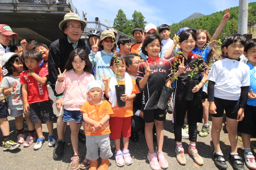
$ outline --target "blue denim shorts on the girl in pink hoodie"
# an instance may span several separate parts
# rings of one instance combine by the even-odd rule
[[[80,110],[66,110],[64,109],[64,114],[62,117],[62,121],[68,122],[75,120],[76,123],[81,123],[83,118],[83,114]]]

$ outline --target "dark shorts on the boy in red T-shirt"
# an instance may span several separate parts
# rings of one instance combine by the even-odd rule
[[[50,100],[29,104],[29,112],[31,114],[31,123],[35,124],[40,121],[54,120],[53,107]],[[41,116],[41,112],[43,117]]]

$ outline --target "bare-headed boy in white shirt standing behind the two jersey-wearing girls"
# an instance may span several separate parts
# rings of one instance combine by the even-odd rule
[[[158,32],[163,37],[163,40],[162,40],[163,47],[162,47],[162,51],[161,51],[161,54],[159,57],[164,58],[163,57],[164,54],[170,48],[171,44],[173,44],[173,40],[170,39],[171,30],[170,30],[169,25],[162,24],[159,26]]]

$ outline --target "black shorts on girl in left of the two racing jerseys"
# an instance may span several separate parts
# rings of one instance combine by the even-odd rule
[[[143,110],[143,119],[145,123],[152,123],[155,119],[164,121],[166,119],[166,113],[165,110],[161,109]]]

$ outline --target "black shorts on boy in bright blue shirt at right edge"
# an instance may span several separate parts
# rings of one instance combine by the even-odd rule
[[[256,134],[256,106],[246,105],[244,118],[238,122],[237,131],[246,134]]]

